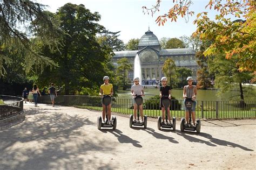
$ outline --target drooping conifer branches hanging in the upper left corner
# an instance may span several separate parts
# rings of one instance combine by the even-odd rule
[[[49,58],[38,53],[38,47],[30,41],[31,36],[38,36],[52,48],[59,45],[56,39],[60,31],[56,29],[56,23],[51,22],[48,13],[43,11],[44,8],[45,5],[32,1],[0,2],[0,75],[6,74],[5,68],[14,60],[26,63],[26,68],[29,68],[27,73],[31,69],[35,72],[35,67],[42,71],[44,66],[55,66]],[[39,27],[39,24],[42,26]],[[13,51],[16,55],[9,58]]]

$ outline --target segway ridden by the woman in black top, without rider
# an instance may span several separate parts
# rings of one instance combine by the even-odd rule
[[[166,128],[166,129],[173,129],[176,130],[176,118],[173,117],[172,118],[172,123],[169,122],[168,123],[168,116],[167,116],[167,109],[170,107],[171,101],[169,100],[168,96],[162,96],[161,97],[161,103],[163,103],[164,108],[165,108],[165,122],[161,122],[162,121],[162,117],[158,116],[158,123],[157,123],[157,127],[159,130],[161,130],[161,128]]]

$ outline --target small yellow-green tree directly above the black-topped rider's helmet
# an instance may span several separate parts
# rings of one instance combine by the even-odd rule
[[[164,62],[163,68],[162,68],[164,74],[166,75],[168,82],[171,87],[175,86],[176,84],[176,65],[175,62],[172,59],[167,59]]]

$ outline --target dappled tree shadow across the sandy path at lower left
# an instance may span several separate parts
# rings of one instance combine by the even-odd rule
[[[78,157],[88,151],[113,150],[104,141],[87,139],[86,133],[82,134],[84,125],[93,124],[88,118],[42,108],[25,112],[23,123],[0,131],[0,169],[52,169],[58,165],[64,169],[84,169],[85,165],[113,168],[111,164],[102,164],[95,156],[86,160]]]

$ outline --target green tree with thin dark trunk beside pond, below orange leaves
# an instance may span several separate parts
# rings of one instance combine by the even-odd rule
[[[215,75],[215,87],[220,89],[220,96],[226,95],[231,90],[239,91],[237,96],[240,98],[240,107],[245,107],[245,90],[242,87],[242,83],[252,79],[252,73],[245,71],[239,72],[237,65],[239,61],[238,56],[233,56],[230,60],[226,60],[223,55],[216,55],[212,60],[208,61],[210,72]],[[248,88],[247,95],[255,96],[255,90]],[[236,96],[234,95],[232,97]]]

